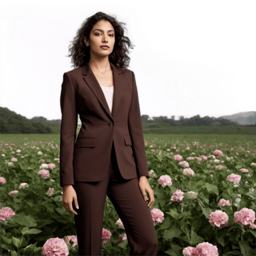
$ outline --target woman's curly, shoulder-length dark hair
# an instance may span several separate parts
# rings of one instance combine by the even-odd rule
[[[90,30],[101,20],[106,20],[114,27],[115,42],[113,52],[109,55],[109,61],[116,66],[128,68],[130,66],[130,49],[135,45],[130,38],[124,35],[127,33],[126,22],[118,21],[115,14],[106,14],[102,11],[85,18],[76,30],[73,40],[69,42],[69,54],[65,57],[70,58],[71,67],[78,68],[90,61],[90,46],[86,46],[84,37],[90,37]]]

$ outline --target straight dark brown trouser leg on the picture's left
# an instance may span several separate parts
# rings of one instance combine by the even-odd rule
[[[79,255],[101,255],[107,181],[106,175],[100,182],[74,182],[79,206],[78,215],[74,215]]]

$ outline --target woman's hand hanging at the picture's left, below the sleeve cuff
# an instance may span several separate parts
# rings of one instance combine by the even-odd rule
[[[76,211],[74,211],[73,207],[72,207],[73,199],[74,199],[74,206],[77,206],[77,208],[78,208],[78,197],[77,197],[77,193],[74,190],[74,187],[72,185],[64,186],[63,194],[62,194],[63,206],[71,214],[78,215],[78,213]]]

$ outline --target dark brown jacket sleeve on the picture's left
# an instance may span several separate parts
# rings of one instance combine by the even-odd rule
[[[62,112],[60,136],[60,185],[63,187],[65,185],[74,185],[74,142],[78,126],[75,90],[66,73],[63,74],[60,107]]]

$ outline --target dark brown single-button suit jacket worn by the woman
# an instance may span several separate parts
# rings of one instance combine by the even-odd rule
[[[149,178],[138,89],[132,70],[110,62],[114,76],[112,113],[90,63],[63,74],[60,95],[60,185],[98,182],[109,167],[114,141],[125,179]],[[82,127],[76,138],[78,114]]]

